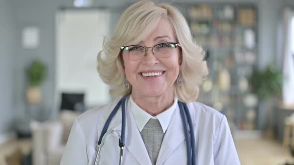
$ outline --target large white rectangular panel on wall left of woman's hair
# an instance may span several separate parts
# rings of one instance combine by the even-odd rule
[[[110,34],[109,10],[62,10],[56,14],[56,94],[84,93],[86,107],[111,101],[98,76],[97,53]]]

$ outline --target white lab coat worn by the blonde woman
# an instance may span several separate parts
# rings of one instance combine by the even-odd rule
[[[60,165],[92,165],[95,143],[119,99],[79,116],[71,129]],[[226,117],[199,102],[187,104],[192,116],[197,165],[240,165]],[[123,165],[151,165],[147,149],[128,104]],[[113,118],[102,140],[99,165],[119,164],[121,110]],[[156,165],[186,165],[183,124],[176,107],[165,132]]]

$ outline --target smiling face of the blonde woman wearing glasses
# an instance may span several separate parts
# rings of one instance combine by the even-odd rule
[[[153,47],[164,42],[177,42],[170,21],[161,18],[149,36],[137,45]],[[132,84],[132,94],[136,96],[160,96],[173,94],[174,82],[179,74],[181,49],[176,47],[174,54],[168,58],[157,58],[148,48],[142,60],[132,61],[123,54],[126,77]],[[159,73],[159,76],[148,76],[147,73]],[[161,75],[160,75],[161,74]]]

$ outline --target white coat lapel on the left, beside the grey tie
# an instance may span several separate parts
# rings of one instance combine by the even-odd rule
[[[128,108],[129,109],[129,108]],[[129,111],[126,121],[126,148],[140,165],[152,165],[133,113]]]

